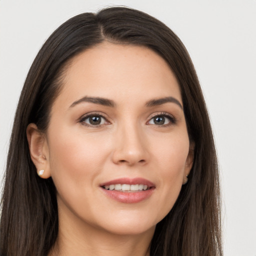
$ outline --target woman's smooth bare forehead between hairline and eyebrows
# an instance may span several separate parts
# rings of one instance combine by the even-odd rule
[[[75,56],[65,71],[57,100],[71,104],[81,96],[117,103],[174,96],[181,102],[178,82],[161,56],[147,47],[106,42]]]

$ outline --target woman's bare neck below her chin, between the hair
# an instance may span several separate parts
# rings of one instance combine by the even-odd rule
[[[69,217],[59,214],[58,237],[48,256],[149,256],[154,226],[139,234],[116,234]]]

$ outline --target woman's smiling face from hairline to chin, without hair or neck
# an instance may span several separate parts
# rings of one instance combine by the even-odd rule
[[[103,43],[75,56],[46,138],[60,223],[111,233],[152,230],[192,164],[177,80],[141,46]]]

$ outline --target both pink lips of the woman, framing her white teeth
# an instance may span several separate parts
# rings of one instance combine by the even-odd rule
[[[140,190],[138,192],[122,192],[117,190],[107,190],[102,187],[111,184],[143,184],[147,185],[149,189]],[[111,199],[124,203],[136,203],[147,199],[153,193],[155,185],[144,178],[117,178],[100,184],[100,188],[103,193]]]

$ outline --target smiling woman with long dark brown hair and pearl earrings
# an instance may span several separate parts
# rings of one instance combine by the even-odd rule
[[[219,181],[189,55],[112,7],[57,28],[24,83],[1,255],[221,255]]]

